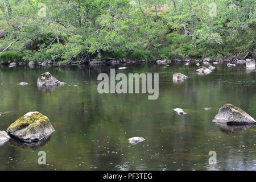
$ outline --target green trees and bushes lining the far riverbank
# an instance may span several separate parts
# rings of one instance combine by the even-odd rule
[[[255,7],[255,0],[5,0],[0,61],[251,58]]]

